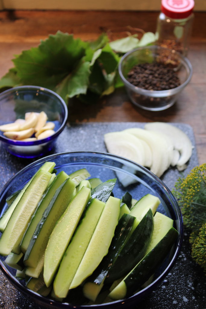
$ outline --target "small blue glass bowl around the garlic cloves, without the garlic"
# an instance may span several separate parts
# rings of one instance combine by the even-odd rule
[[[55,133],[47,138],[23,142],[6,138],[0,131],[0,142],[12,155],[35,158],[52,150],[58,135],[64,129],[68,117],[67,106],[57,93],[37,86],[21,86],[0,94],[0,125],[24,118],[26,112],[42,112],[55,124]]]

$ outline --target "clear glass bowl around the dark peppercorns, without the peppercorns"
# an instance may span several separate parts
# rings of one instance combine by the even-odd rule
[[[146,90],[128,82],[128,72],[140,63],[163,62],[177,72],[180,86],[168,90]],[[132,103],[149,111],[160,111],[172,106],[179,93],[192,77],[190,61],[180,53],[160,46],[145,46],[126,53],[119,63],[120,78]]]

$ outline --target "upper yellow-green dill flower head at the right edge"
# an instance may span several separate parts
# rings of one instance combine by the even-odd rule
[[[184,226],[197,235],[206,222],[206,163],[193,168],[186,178],[179,178],[173,194],[181,208]]]

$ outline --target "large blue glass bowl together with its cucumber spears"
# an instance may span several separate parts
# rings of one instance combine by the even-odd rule
[[[1,270],[47,308],[132,307],[171,270],[183,241],[165,184],[103,152],[28,165],[2,189],[0,210]]]

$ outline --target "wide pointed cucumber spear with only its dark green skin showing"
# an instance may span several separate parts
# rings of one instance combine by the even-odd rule
[[[152,238],[153,224],[153,213],[149,209],[109,269],[105,285],[124,277],[143,258]]]

